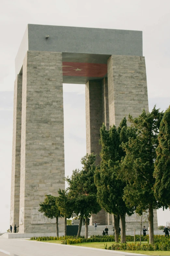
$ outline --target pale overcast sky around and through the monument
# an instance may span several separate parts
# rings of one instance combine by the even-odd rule
[[[27,24],[143,31],[149,111],[170,104],[169,0],[6,0],[0,3],[0,231],[9,228],[14,60]],[[65,176],[86,154],[85,86],[64,84]],[[159,209],[158,225],[170,221]]]

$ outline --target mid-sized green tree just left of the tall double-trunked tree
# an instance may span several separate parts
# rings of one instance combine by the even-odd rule
[[[88,218],[101,210],[97,203],[97,188],[94,184],[95,159],[93,154],[86,154],[81,159],[82,170],[75,170],[68,182],[68,194],[74,200],[74,213],[80,217],[78,236],[81,232],[83,216],[85,217],[85,237],[88,238]]]

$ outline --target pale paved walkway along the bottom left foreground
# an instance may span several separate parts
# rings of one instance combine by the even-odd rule
[[[0,256],[109,256],[110,254],[114,256],[135,255],[132,253],[88,247],[43,243],[24,239],[7,239],[0,237]]]

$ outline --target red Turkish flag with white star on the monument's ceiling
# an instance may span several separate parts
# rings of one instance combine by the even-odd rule
[[[106,74],[107,64],[63,62],[63,76],[104,77]]]

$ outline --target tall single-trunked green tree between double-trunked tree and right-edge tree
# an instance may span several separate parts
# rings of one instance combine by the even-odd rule
[[[129,138],[122,146],[126,152],[121,161],[122,180],[127,182],[124,188],[124,200],[127,206],[136,207],[136,212],[141,214],[149,209],[149,243],[154,243],[153,237],[153,209],[160,207],[155,199],[153,186],[154,162],[158,146],[158,132],[163,112],[154,107],[151,113],[143,110],[137,118],[129,115],[132,127],[136,129],[137,136]]]

